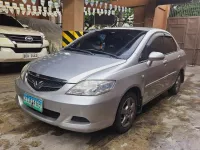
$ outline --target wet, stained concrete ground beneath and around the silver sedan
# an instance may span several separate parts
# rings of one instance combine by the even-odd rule
[[[123,135],[111,129],[91,134],[70,132],[24,114],[14,101],[14,79],[20,69],[11,66],[0,74],[2,150],[200,149],[200,67],[189,67],[180,94],[165,93],[145,106],[132,129]]]

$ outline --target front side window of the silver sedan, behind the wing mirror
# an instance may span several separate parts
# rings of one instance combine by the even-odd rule
[[[163,36],[153,36],[141,53],[139,62],[147,61],[151,52],[162,52]]]

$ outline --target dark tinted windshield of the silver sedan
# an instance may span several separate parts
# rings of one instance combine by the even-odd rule
[[[93,54],[127,59],[145,36],[146,31],[105,29],[88,33],[70,44],[65,50],[84,50]]]

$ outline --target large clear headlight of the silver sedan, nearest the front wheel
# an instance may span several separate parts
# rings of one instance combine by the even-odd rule
[[[66,94],[79,96],[95,96],[112,90],[115,81],[82,81],[71,88]]]

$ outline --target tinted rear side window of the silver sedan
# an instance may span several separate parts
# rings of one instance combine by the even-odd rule
[[[164,54],[169,54],[177,51],[177,45],[171,36],[164,36]]]

